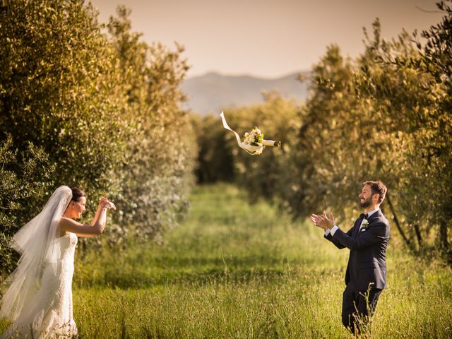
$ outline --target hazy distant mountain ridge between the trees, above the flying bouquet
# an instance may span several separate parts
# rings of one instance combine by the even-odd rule
[[[263,102],[262,93],[270,90],[278,90],[283,97],[304,100],[307,97],[307,83],[297,80],[298,76],[299,73],[293,73],[282,78],[265,79],[207,73],[186,79],[181,89],[189,97],[186,108],[205,115],[208,112],[218,113],[225,107]]]

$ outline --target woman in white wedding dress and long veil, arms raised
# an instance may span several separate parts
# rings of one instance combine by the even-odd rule
[[[13,237],[21,256],[6,279],[0,316],[12,321],[4,338],[73,338],[78,335],[72,314],[73,257],[77,237],[101,234],[107,210],[116,206],[101,198],[93,222],[73,219],[85,212],[81,189],[60,186],[42,211]]]

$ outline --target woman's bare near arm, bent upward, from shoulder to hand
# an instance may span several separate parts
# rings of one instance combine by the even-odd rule
[[[76,220],[61,217],[59,222],[60,234],[64,235],[66,232],[77,234],[78,237],[96,237],[105,229],[107,222],[107,210],[114,205],[105,203],[102,208],[98,208],[96,212],[97,220],[93,220],[93,225],[84,225]]]

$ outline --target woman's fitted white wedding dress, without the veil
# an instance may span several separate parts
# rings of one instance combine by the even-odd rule
[[[73,259],[77,240],[77,235],[69,232],[53,240],[60,252],[56,266],[44,266],[39,290],[30,297],[1,339],[75,338],[78,335],[72,312]]]

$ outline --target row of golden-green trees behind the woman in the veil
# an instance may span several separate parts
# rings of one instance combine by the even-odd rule
[[[84,189],[91,213],[100,196],[115,201],[112,244],[160,241],[186,213],[196,145],[183,48],[143,42],[125,7],[107,24],[97,14],[84,1],[0,1],[2,273],[9,239],[61,184]]]

